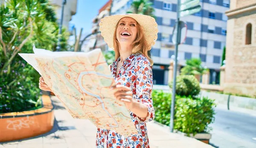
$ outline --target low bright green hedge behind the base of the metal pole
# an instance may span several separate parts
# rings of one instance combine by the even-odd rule
[[[169,126],[172,95],[154,90],[152,98],[155,121]],[[214,101],[206,97],[200,99],[176,96],[174,129],[186,134],[209,133],[209,124],[214,122],[214,106]]]

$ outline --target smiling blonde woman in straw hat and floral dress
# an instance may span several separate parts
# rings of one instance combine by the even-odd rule
[[[104,17],[99,30],[105,42],[115,51],[116,60],[110,65],[116,81],[114,96],[125,103],[138,134],[124,137],[115,131],[98,128],[96,148],[149,148],[145,122],[154,120],[151,99],[153,61],[148,50],[157,39],[154,18],[142,14]],[[40,78],[40,88],[50,91]]]

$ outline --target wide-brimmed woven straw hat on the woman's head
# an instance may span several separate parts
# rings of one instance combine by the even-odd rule
[[[146,40],[147,49],[150,50],[151,46],[153,46],[157,40],[157,22],[153,17],[143,14],[111,15],[102,18],[99,23],[99,31],[101,31],[101,35],[104,38],[104,41],[108,44],[109,48],[113,49],[113,37],[116,24],[123,17],[131,17],[140,24]]]

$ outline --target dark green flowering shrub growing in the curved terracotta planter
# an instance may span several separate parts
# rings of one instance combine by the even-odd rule
[[[0,61],[1,65],[3,62]],[[11,67],[0,77],[0,113],[41,108],[40,89],[28,75],[32,70],[30,66],[17,61]]]

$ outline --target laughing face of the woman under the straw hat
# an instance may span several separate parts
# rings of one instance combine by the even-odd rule
[[[137,22],[131,17],[123,17],[116,28],[116,38],[120,44],[131,44],[137,36]]]

